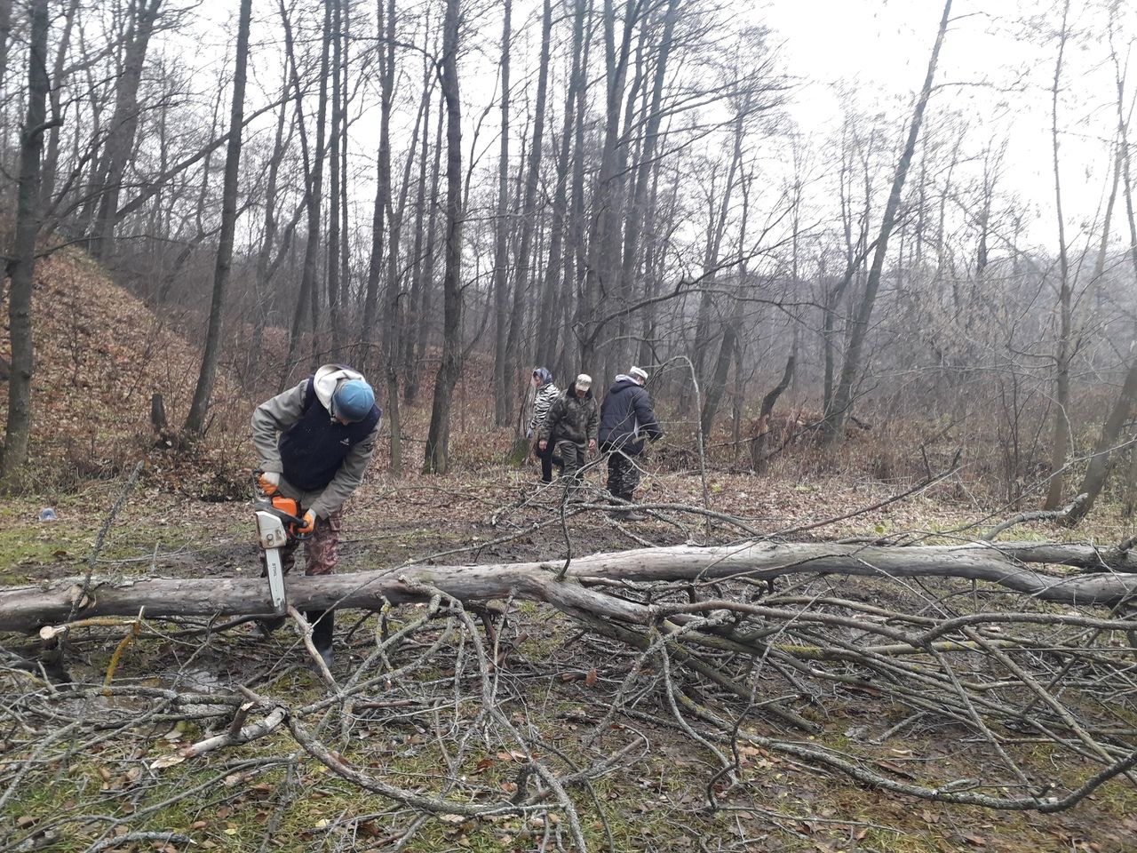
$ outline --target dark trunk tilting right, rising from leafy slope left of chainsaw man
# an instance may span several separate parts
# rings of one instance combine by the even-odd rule
[[[241,167],[241,126],[244,117],[244,71],[249,53],[249,19],[252,0],[241,0],[236,28],[235,68],[233,71],[233,107],[229,114],[229,146],[225,151],[225,184],[222,190],[221,237],[217,242],[217,264],[214,267],[213,299],[209,303],[209,324],[206,331],[206,350],[201,357],[201,372],[193,390],[193,401],[185,417],[184,431],[200,436],[206,425],[206,413],[217,376],[217,357],[221,353],[222,313],[233,263],[233,232],[236,227],[238,175]]]

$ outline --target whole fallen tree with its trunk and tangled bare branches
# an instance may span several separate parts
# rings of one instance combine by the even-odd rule
[[[159,750],[118,754],[114,796],[94,805],[76,797],[6,827],[0,853],[43,846],[52,834],[82,837],[92,853],[135,839],[186,844],[184,831],[136,827],[180,800],[208,810],[233,796],[225,780],[248,787],[271,772],[285,779],[275,788],[279,820],[310,760],[388,804],[322,831],[371,827],[398,848],[428,821],[518,818],[539,827],[543,847],[615,850],[594,782],[632,768],[662,731],[709,762],[692,820],[727,809],[778,819],[762,805],[756,754],[927,801],[1070,809],[1111,779],[1134,781],[1134,568],[1127,547],[981,539],[748,539],[555,562],[410,564],[291,580],[298,639],[271,654],[239,628],[264,604],[256,579],[88,577],[3,590],[0,628],[67,616],[41,636],[68,669],[36,673],[9,655],[0,808],[32,782],[66,778],[77,756],[172,736]],[[526,654],[524,601],[551,605],[579,631],[547,655]],[[300,615],[332,604],[365,610],[338,635],[335,672],[319,663]],[[224,622],[225,613],[243,615]],[[83,664],[108,647],[109,664]],[[179,661],[158,685],[128,671],[146,648]],[[194,684],[196,668],[232,659],[250,671]],[[321,695],[297,698],[301,665],[318,668]],[[574,690],[582,710],[571,744],[543,734],[534,684]],[[839,736],[840,748],[824,735]],[[946,762],[904,767],[889,750],[932,736],[965,745],[965,776]],[[207,753],[265,738],[272,748],[256,759],[210,764],[216,772],[194,786],[169,782]],[[430,752],[434,770],[414,779],[387,771],[392,751]],[[262,848],[273,831],[269,820]]]

